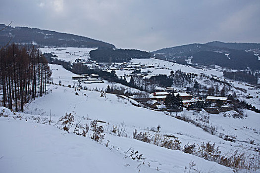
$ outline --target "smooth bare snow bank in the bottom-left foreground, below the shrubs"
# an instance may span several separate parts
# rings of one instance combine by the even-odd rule
[[[52,126],[0,118],[1,173],[137,173],[138,162]],[[129,165],[129,166],[125,166]],[[143,173],[156,173],[142,167]]]

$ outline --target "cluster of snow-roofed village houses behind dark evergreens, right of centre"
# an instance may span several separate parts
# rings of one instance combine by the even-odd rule
[[[150,94],[149,100],[146,102],[148,106],[154,109],[165,109],[164,101],[168,94],[173,93],[174,96],[180,95],[183,107],[189,107],[193,103],[205,101],[205,99],[194,97],[192,94],[186,92],[177,92],[172,87],[167,87],[165,91],[158,91]],[[227,97],[207,96],[206,101],[214,102],[227,102]]]

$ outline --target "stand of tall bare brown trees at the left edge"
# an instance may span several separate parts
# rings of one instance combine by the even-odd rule
[[[46,94],[52,72],[39,48],[10,44],[0,49],[1,104],[23,111],[30,99]],[[14,103],[14,105],[13,105]]]

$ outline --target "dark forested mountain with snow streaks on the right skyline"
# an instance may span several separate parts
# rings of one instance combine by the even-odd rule
[[[260,43],[193,43],[151,52],[158,59],[187,64],[189,59],[193,65],[212,66],[229,69],[260,70]]]

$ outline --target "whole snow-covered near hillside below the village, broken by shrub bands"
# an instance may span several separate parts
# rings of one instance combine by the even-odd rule
[[[100,172],[103,172],[106,168],[107,172],[111,172],[113,167],[117,167],[114,170],[115,172],[117,172],[117,169],[120,172],[120,169],[127,169],[124,168],[126,164],[131,166],[128,168],[130,172],[133,170],[138,172],[138,163],[128,162],[129,160],[123,159],[126,155],[125,152],[132,148],[144,155],[146,163],[149,163],[151,166],[150,168],[155,170],[158,167],[162,173],[183,173],[184,168],[189,167],[191,161],[194,161],[198,169],[202,172],[232,173],[229,168],[206,161],[197,156],[181,151],[169,150],[132,138],[132,132],[135,129],[138,131],[150,131],[158,125],[161,127],[161,134],[172,134],[179,137],[182,146],[186,143],[201,144],[202,142],[210,141],[216,143],[222,153],[230,153],[239,148],[250,150],[250,146],[253,146],[245,142],[234,143],[225,141],[218,136],[211,135],[194,125],[177,120],[164,113],[135,107],[131,105],[128,100],[118,98],[113,94],[106,94],[106,98],[104,98],[100,97],[100,93],[96,91],[81,90],[78,91],[79,95],[75,95],[73,88],[51,85],[49,89],[49,94],[27,104],[24,113],[16,113],[16,115],[14,115],[22,117],[21,120],[13,120],[10,117],[0,119],[0,137],[6,141],[1,143],[0,147],[2,150],[1,153],[3,153],[2,155],[4,156],[2,162],[0,162],[0,164],[3,164],[1,168],[2,166],[9,165],[10,160],[16,163],[21,162],[16,167],[3,167],[6,169],[6,172],[13,172],[16,169],[35,172],[40,168],[45,171],[50,171],[49,169],[52,168],[52,171],[54,171],[61,169],[65,163],[70,163],[66,164],[70,165],[70,169],[74,168],[80,171],[87,169],[85,166],[78,166],[78,164],[81,165],[85,160],[89,165],[95,165],[89,168],[92,170],[100,163],[99,157],[104,157],[104,160],[101,162],[104,168],[101,166],[99,168]],[[109,147],[106,148],[101,144],[96,144],[88,138],[82,138],[74,136],[74,134],[56,130],[48,124],[40,125],[35,123],[35,121],[38,121],[37,117],[49,119],[51,111],[53,122],[56,122],[61,116],[65,115],[65,113],[72,113],[75,115],[75,122],[89,123],[95,119],[105,121],[104,129],[107,131],[109,131],[113,125],[119,125],[124,122],[127,137],[117,137],[105,133],[104,143],[109,141],[109,147],[110,149],[112,148],[112,151],[109,151]],[[184,113],[187,116],[192,116],[191,111],[185,111]],[[250,125],[252,129],[254,128],[256,132],[259,132],[260,130],[256,123],[259,122],[259,116],[255,115],[254,112],[248,113],[245,123],[248,122],[247,124]],[[32,122],[33,120],[30,118],[32,116],[35,117],[34,122]],[[28,122],[26,122],[25,119],[28,119]],[[225,129],[227,133],[237,131],[239,137],[241,136],[239,134],[244,132],[242,137],[255,139],[259,145],[259,133],[247,128],[234,130],[243,124],[243,120],[241,119],[215,115],[210,116],[209,121],[212,121],[215,125],[223,124],[223,129],[227,127],[227,129]],[[225,125],[223,122],[229,123]],[[54,123],[52,123],[52,125],[53,124]],[[36,128],[34,128],[34,126],[36,126]],[[17,132],[14,129],[17,129]],[[150,132],[153,133],[152,131]],[[26,145],[26,143],[29,143],[29,145]],[[11,148],[15,148],[15,152],[13,152]],[[99,152],[95,152],[96,150],[99,150]],[[90,156],[89,151],[92,153]],[[115,157],[113,162],[111,162],[112,159],[109,157],[110,154],[111,157]],[[44,159],[47,157],[52,157],[52,159],[44,162]],[[119,161],[117,161],[117,159],[119,159]],[[46,165],[50,165],[50,167],[43,168],[39,166],[41,165],[40,163],[42,163],[41,161],[46,163]],[[30,167],[31,163],[35,163],[35,165],[33,164],[34,166]],[[78,164],[75,165],[73,163]],[[109,166],[106,167],[106,165]],[[65,168],[67,167],[65,166],[64,169],[61,170],[65,170]],[[66,169],[65,172],[70,169]],[[142,167],[141,170],[142,172],[152,172],[147,166]],[[124,172],[127,172],[127,170]]]

